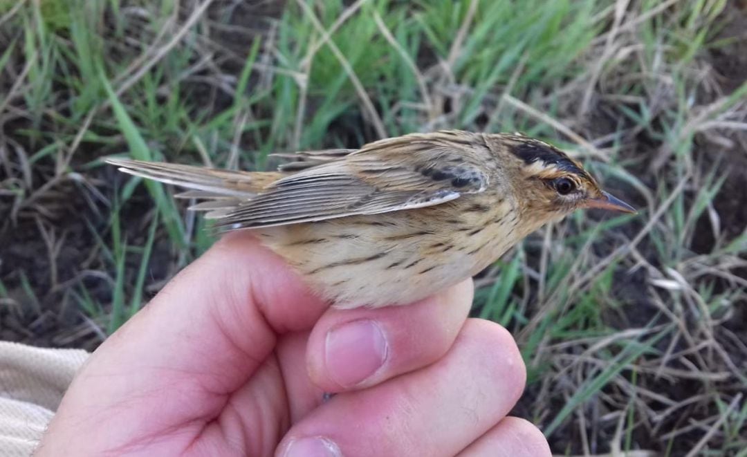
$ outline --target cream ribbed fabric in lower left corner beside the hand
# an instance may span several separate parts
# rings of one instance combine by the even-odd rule
[[[72,377],[88,358],[79,349],[0,341],[0,456],[31,456]]]

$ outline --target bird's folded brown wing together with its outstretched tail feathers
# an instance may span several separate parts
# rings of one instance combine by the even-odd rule
[[[486,189],[480,136],[412,134],[362,149],[301,154],[282,172],[211,170],[109,159],[120,170],[189,189],[217,228],[260,228],[440,205]],[[471,149],[466,149],[471,148]],[[291,173],[291,170],[299,170]]]

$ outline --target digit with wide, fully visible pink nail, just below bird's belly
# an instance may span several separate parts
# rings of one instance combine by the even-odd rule
[[[324,391],[339,392],[432,364],[462,328],[472,293],[468,280],[412,305],[329,309],[306,346],[309,377]]]

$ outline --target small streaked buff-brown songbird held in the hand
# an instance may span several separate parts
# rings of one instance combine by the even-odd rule
[[[223,230],[249,229],[338,308],[415,302],[480,272],[578,208],[635,210],[554,146],[438,131],[299,152],[276,172],[109,159],[185,187]]]

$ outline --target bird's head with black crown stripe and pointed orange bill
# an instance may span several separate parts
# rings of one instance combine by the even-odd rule
[[[554,146],[520,135],[489,135],[491,140],[492,149],[506,155],[501,163],[506,164],[522,215],[539,225],[581,208],[636,212],[601,190],[589,172]]]

